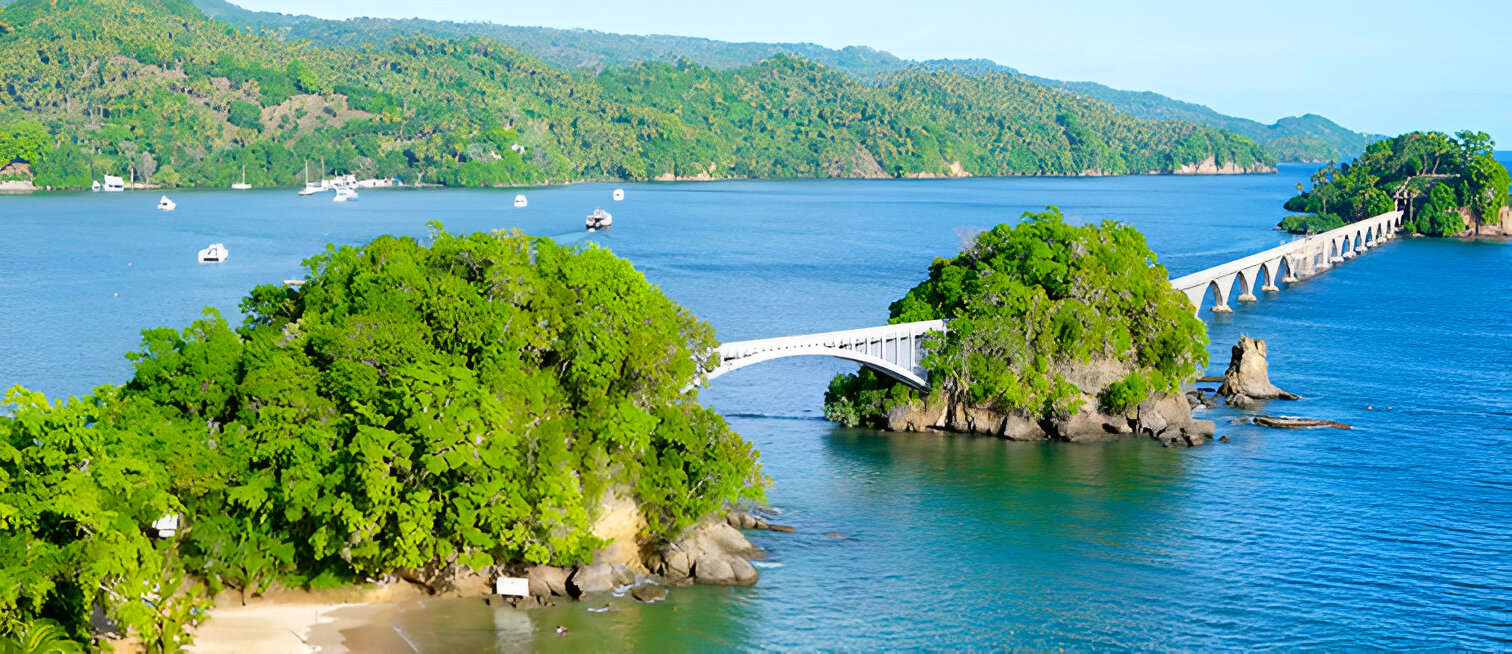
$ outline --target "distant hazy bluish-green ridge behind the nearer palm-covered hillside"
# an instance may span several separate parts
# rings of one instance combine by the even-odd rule
[[[206,15],[237,26],[269,29],[284,39],[308,39],[321,45],[360,47],[381,44],[398,36],[426,33],[443,38],[485,36],[510,44],[520,51],[564,69],[602,69],[637,62],[671,62],[688,59],[703,66],[723,69],[758,63],[776,54],[795,54],[827,68],[835,68],[859,80],[910,68],[951,71],[968,76],[989,72],[1021,74],[987,59],[909,60],[888,51],[850,45],[833,50],[806,42],[727,42],[696,36],[620,35],[597,30],[564,30],[553,27],[520,27],[494,23],[452,23],[422,18],[348,18],[324,20],[305,15],[259,12],[225,0],[194,0]],[[1061,91],[1081,94],[1114,106],[1139,118],[1187,121],[1237,131],[1269,148],[1284,162],[1335,162],[1359,157],[1365,145],[1385,136],[1364,134],[1340,127],[1318,115],[1282,118],[1264,124],[1247,118],[1219,113],[1207,106],[1173,100],[1149,91],[1119,91],[1095,82],[1061,82],[1046,77],[1025,79]]]

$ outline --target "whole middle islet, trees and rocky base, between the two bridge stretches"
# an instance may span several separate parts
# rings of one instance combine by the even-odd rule
[[[950,320],[925,344],[928,393],[860,370],[824,396],[833,421],[1010,440],[1211,440],[1182,382],[1207,366],[1207,325],[1129,225],[1067,225],[1058,208],[998,225],[889,307]]]

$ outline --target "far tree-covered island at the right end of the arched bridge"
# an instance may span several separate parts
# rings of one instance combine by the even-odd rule
[[[1492,157],[1483,131],[1414,131],[1377,140],[1355,163],[1329,163],[1312,175],[1312,189],[1287,201],[1278,228],[1321,233],[1403,207],[1403,228],[1424,236],[1506,236],[1506,166]]]

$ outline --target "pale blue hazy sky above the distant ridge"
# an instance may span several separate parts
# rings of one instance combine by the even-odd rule
[[[1489,131],[1512,148],[1512,2],[233,0],[321,18],[585,27],[721,41],[871,45],[1155,91],[1275,121]]]

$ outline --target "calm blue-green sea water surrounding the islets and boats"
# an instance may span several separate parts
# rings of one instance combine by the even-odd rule
[[[1506,153],[1503,153],[1506,154]],[[514,190],[278,190],[0,198],[0,387],[121,382],[148,326],[234,319],[325,243],[520,228],[596,240],[724,340],[878,325],[960,249],[957,228],[1060,205],[1140,228],[1173,275],[1276,245],[1279,175],[730,181]],[[582,216],[614,211],[611,233]],[[221,266],[194,261],[224,242]],[[1272,411],[1353,430],[1228,424],[1231,443],[1022,444],[839,429],[824,387],[853,364],[782,359],[702,391],[762,452],[776,521],[753,588],[679,589],[531,613],[434,603],[422,651],[897,648],[1512,648],[1512,246],[1400,239],[1211,317],[1222,375],[1270,344]],[[841,532],[844,538],[823,538]],[[611,610],[593,613],[588,609]],[[558,637],[555,625],[570,636]]]

